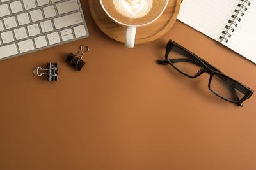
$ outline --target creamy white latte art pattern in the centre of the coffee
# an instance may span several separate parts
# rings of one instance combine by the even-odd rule
[[[113,0],[116,10],[129,18],[140,18],[148,14],[153,0]]]

